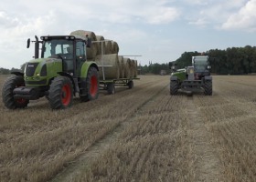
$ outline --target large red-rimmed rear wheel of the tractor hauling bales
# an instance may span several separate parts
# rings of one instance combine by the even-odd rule
[[[81,102],[95,100],[99,96],[99,75],[95,67],[89,67],[86,78],[86,96],[80,96]]]

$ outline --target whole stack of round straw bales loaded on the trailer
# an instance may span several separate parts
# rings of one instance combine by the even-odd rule
[[[100,69],[100,78],[105,79],[133,78],[137,76],[137,61],[118,56],[119,45],[112,40],[105,39],[102,35],[95,35],[91,31],[76,30],[70,35],[79,35],[91,38],[91,47],[86,48],[87,59],[95,61]],[[101,41],[101,42],[100,42]]]

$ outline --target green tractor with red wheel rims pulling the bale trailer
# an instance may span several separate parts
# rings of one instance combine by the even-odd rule
[[[27,62],[25,73],[12,73],[5,80],[2,98],[9,109],[23,108],[29,100],[46,96],[51,108],[72,105],[73,96],[81,101],[97,99],[99,95],[99,68],[86,59],[90,38],[77,35],[37,36],[35,59]],[[41,44],[41,48],[40,48]],[[27,40],[27,48],[30,39]],[[39,57],[41,52],[41,58]]]

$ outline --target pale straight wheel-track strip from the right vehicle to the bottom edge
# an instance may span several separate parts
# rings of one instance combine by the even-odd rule
[[[221,165],[215,148],[210,143],[208,125],[192,99],[187,99],[187,116],[191,129],[191,145],[194,150],[192,154],[196,159],[196,181],[222,181]]]

